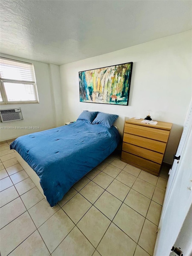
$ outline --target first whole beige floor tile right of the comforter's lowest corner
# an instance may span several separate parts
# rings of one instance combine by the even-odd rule
[[[64,204],[62,209],[76,224],[90,207],[91,203],[89,203],[89,201],[86,200],[82,195],[77,193],[66,204]]]

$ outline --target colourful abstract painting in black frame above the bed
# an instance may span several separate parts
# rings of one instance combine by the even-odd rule
[[[128,105],[133,62],[79,72],[80,102]]]

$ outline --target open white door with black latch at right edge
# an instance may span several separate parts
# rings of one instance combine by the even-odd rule
[[[169,256],[192,203],[192,102],[174,160],[159,222],[154,256]],[[182,247],[181,247],[182,248]]]

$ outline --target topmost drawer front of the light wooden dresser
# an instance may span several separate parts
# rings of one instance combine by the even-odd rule
[[[169,138],[169,133],[170,133],[169,131],[165,131],[161,129],[150,128],[150,127],[141,126],[141,125],[131,125],[126,123],[125,123],[124,132],[143,136],[153,140],[160,140],[164,142],[167,142]]]

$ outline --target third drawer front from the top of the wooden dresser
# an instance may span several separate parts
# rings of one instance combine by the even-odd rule
[[[163,161],[163,154],[151,151],[149,149],[140,148],[128,143],[123,143],[123,149],[126,152],[132,153],[134,155],[141,156],[148,160],[154,161],[158,164],[161,164]]]

